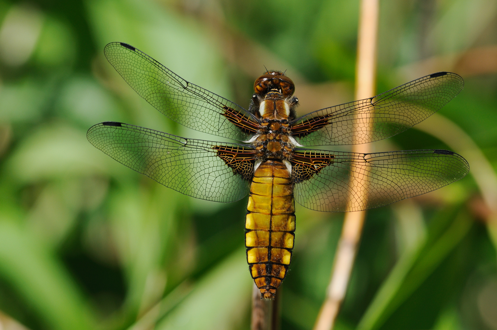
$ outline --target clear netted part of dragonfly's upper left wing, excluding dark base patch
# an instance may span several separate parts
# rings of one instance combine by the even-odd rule
[[[157,110],[197,131],[245,141],[248,137],[223,115],[240,113],[257,122],[247,110],[211,91],[189,83],[133,46],[112,42],[104,54],[124,80]]]

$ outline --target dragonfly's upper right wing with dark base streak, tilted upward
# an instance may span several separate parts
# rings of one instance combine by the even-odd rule
[[[428,118],[463,86],[460,76],[439,72],[371,98],[308,113],[290,125],[294,137],[305,146],[351,145],[386,139]]]

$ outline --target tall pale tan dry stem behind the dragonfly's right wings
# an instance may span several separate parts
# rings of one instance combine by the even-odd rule
[[[378,12],[379,0],[361,0],[357,38],[355,99],[364,99],[375,94]],[[356,153],[370,152],[367,144],[354,145],[352,151]],[[365,189],[367,182],[363,180],[362,176],[352,175],[350,185],[351,192],[355,193],[350,194],[349,202],[362,204],[367,198]],[[357,199],[362,199],[362,201]],[[342,233],[335,253],[331,282],[314,330],[333,329],[336,315],[345,297],[365,215],[365,211],[345,213]]]

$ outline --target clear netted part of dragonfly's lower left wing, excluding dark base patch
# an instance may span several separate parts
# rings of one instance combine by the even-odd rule
[[[121,164],[185,195],[233,202],[248,192],[248,181],[217,156],[219,143],[193,140],[116,122],[92,126],[88,141]],[[233,148],[247,148],[222,143]]]

